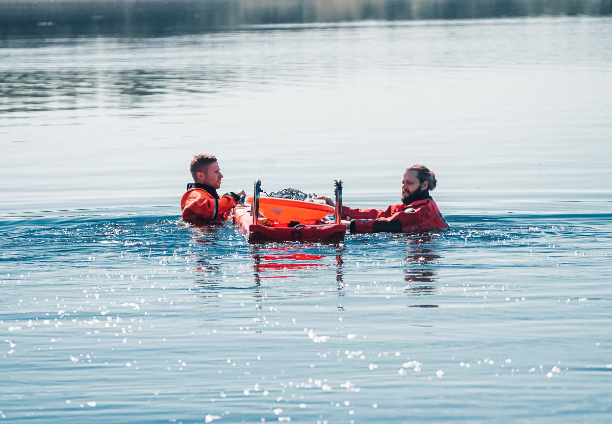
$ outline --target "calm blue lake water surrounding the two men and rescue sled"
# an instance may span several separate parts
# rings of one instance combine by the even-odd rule
[[[0,41],[0,421],[608,422],[612,18]],[[222,192],[451,226],[247,244]]]

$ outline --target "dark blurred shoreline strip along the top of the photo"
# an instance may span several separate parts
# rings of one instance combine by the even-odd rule
[[[0,0],[0,38],[162,36],[248,25],[612,15],[612,0]]]

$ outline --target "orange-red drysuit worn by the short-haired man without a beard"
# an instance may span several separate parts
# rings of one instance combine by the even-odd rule
[[[190,188],[192,187],[193,188]],[[236,206],[240,196],[229,192],[219,197],[217,190],[205,184],[188,184],[181,199],[184,221],[193,225],[210,224],[228,219],[230,209]]]

